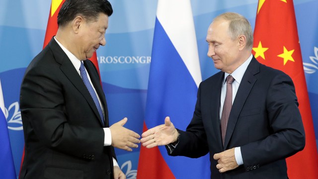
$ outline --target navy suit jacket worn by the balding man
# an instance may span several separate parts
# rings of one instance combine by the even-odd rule
[[[253,57],[233,102],[224,147],[220,100],[224,73],[203,81],[195,111],[172,156],[198,158],[210,153],[211,179],[287,179],[285,158],[305,147],[305,132],[289,76]],[[213,155],[240,147],[243,165],[219,173]]]

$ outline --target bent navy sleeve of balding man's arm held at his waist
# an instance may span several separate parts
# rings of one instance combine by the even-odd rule
[[[270,135],[241,146],[244,166],[265,165],[285,159],[305,147],[305,131],[292,80],[276,75],[266,94]]]

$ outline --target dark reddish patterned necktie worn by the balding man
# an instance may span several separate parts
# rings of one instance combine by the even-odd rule
[[[221,116],[221,133],[223,146],[225,141],[225,134],[227,132],[229,116],[232,108],[232,83],[234,82],[234,80],[235,79],[231,75],[227,77],[227,93],[225,95]]]

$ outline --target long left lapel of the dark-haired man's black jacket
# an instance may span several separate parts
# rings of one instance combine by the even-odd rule
[[[57,63],[61,64],[61,71],[65,74],[65,76],[70,80],[70,82],[79,90],[79,92],[86,99],[87,103],[94,111],[95,116],[98,118],[99,123],[102,125],[100,121],[100,116],[97,110],[97,107],[89,94],[85,84],[79,76],[79,73],[75,69],[69,57],[65,54],[59,44],[55,41],[54,37],[49,42],[50,48],[52,49],[53,55]]]

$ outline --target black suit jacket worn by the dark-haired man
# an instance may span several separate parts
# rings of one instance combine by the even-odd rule
[[[84,61],[105,110],[94,65]],[[104,147],[95,103],[72,62],[52,38],[26,69],[20,92],[25,156],[21,179],[111,179],[115,157]]]

